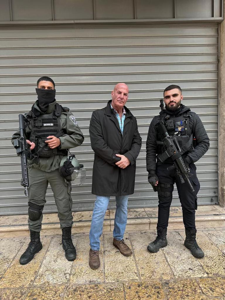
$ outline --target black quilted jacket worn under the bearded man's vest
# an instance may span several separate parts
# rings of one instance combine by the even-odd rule
[[[159,139],[155,124],[159,122],[162,114],[164,114],[165,116],[171,115],[170,118],[173,119],[173,117],[182,116],[184,112],[190,112],[190,108],[181,104],[181,107],[177,112],[173,113],[169,110],[163,110],[159,116],[155,116],[152,119],[152,122],[149,126],[149,133],[146,142],[146,167],[148,172],[151,170],[156,170],[156,155],[158,154],[156,141]],[[183,157],[188,156],[191,162],[194,163],[198,161],[199,158],[201,158],[202,155],[204,155],[208,150],[209,138],[199,116],[193,112],[190,112],[190,114],[190,131],[196,138],[196,146],[192,152],[184,154]]]

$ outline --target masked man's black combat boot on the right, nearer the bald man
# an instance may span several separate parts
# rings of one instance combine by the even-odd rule
[[[71,239],[71,227],[62,229],[62,247],[65,250],[67,260],[72,261],[76,259],[76,249]]]

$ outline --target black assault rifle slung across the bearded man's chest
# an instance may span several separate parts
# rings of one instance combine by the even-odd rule
[[[192,176],[192,174],[190,174],[190,169],[185,165],[184,160],[180,154],[181,149],[176,137],[170,136],[168,134],[163,121],[158,122],[156,127],[158,133],[163,136],[163,141],[157,141],[157,144],[164,146],[165,150],[162,154],[157,155],[157,159],[161,162],[164,162],[167,158],[171,157],[174,165],[168,167],[167,170],[169,171],[176,168],[177,175],[179,176],[181,183],[184,183],[184,180],[186,180],[190,186],[190,189],[192,190],[192,192],[194,192],[194,188],[189,180],[189,177]]]

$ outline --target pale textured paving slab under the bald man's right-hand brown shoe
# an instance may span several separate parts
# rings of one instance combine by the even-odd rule
[[[124,240],[128,244],[128,247],[131,247],[128,234],[124,235]],[[113,246],[112,234],[104,235],[104,253],[106,281],[138,280],[133,255],[129,257],[123,256],[119,250]]]

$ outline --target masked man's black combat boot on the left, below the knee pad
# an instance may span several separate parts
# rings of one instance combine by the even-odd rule
[[[20,256],[19,263],[21,265],[26,265],[30,262],[35,253],[38,253],[42,249],[42,244],[40,240],[40,232],[30,230],[31,241],[26,249],[26,251]]]

